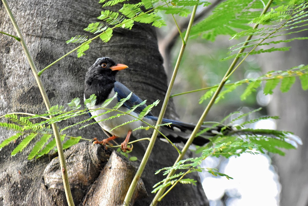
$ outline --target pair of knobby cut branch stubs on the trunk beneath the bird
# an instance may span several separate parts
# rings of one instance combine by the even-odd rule
[[[64,153],[76,205],[123,203],[137,168],[119,153],[110,153],[111,150],[105,150],[97,144],[92,146],[91,142],[81,142]],[[41,202],[48,201],[49,205],[57,206],[67,204],[58,158],[52,159],[46,167],[39,190]],[[144,184],[140,180],[132,204],[136,199],[146,196]],[[47,202],[45,204],[48,205]]]

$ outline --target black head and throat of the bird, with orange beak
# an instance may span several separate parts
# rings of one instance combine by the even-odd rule
[[[125,64],[115,64],[109,57],[98,58],[88,69],[85,77],[86,98],[96,95],[96,103],[104,101],[114,87],[115,75],[119,70],[128,68]]]

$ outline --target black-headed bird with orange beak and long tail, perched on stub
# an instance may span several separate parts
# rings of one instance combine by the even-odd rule
[[[132,131],[140,126],[148,126],[148,125],[146,125],[142,121],[135,121],[122,126],[119,125],[124,124],[125,122],[128,121],[136,120],[135,117],[138,117],[139,114],[142,112],[143,109],[146,108],[147,105],[143,104],[130,113],[132,116],[135,117],[132,117],[130,115],[123,115],[106,121],[101,121],[101,120],[116,115],[117,111],[112,111],[100,115],[104,113],[106,110],[104,109],[95,110],[95,109],[98,109],[105,100],[114,97],[115,93],[117,93],[116,98],[114,98],[112,102],[108,104],[107,107],[105,108],[112,108],[121,99],[128,97],[128,95],[130,95],[131,91],[126,86],[115,80],[117,72],[125,68],[128,68],[128,66],[124,64],[116,64],[109,57],[98,58],[87,71],[85,77],[85,90],[84,90],[84,99],[88,99],[92,94],[95,94],[96,96],[95,105],[90,108],[88,107],[90,116],[91,115],[95,116],[94,117],[95,121],[98,122],[99,126],[101,126],[103,131],[109,136],[109,138],[104,139],[103,141],[96,140],[94,143],[101,143],[103,145],[106,145],[106,143],[112,139],[125,138],[124,142],[121,143],[121,149],[124,151],[129,150],[129,148],[127,147],[127,143],[132,134]],[[131,97],[127,101],[125,101],[124,104],[118,110],[127,112],[133,106],[136,106],[142,102],[143,101],[137,95],[132,93]],[[155,117],[151,112],[149,112],[147,115],[143,117],[143,120],[145,122],[148,122],[150,125],[155,125],[157,119],[158,117]],[[162,123],[169,123],[169,122],[171,122],[172,124],[161,126],[160,128],[161,132],[166,136],[168,136],[168,138],[174,143],[187,142],[187,139],[190,133],[195,128],[195,125],[165,118],[162,120]],[[116,126],[119,127],[112,130]],[[205,127],[202,127],[201,129],[205,129]],[[220,129],[221,127],[208,130],[206,135],[214,136],[220,132],[219,131]],[[140,129],[140,130],[135,130],[133,132],[134,133],[133,135],[136,138],[144,138],[151,136],[152,132],[153,130]],[[208,139],[202,136],[198,136],[194,139],[193,144],[201,146],[207,142],[209,142]]]

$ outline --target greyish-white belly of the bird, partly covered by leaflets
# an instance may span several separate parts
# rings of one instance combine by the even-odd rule
[[[114,96],[114,94],[110,94],[108,98],[111,98],[113,96]],[[135,117],[132,117],[128,114],[124,114],[124,115],[121,115],[121,116],[118,116],[118,117],[114,117],[114,118],[102,121],[103,119],[107,119],[111,116],[116,116],[117,114],[121,114],[121,112],[119,112],[119,111],[112,111],[112,112],[109,112],[109,113],[106,113],[106,114],[103,114],[103,115],[99,115],[101,113],[106,112],[107,109],[111,109],[112,107],[114,107],[117,102],[118,101],[115,98],[111,101],[111,103],[109,105],[107,105],[105,107],[106,109],[99,109],[99,110],[96,110],[96,111],[90,110],[90,113],[91,113],[92,116],[97,116],[97,117],[94,117],[94,119],[95,119],[96,122],[98,122],[99,126],[101,126],[104,130],[108,131],[112,135],[115,135],[116,137],[125,138],[129,130],[134,130],[134,129],[140,127],[140,126],[148,126],[144,122],[141,122],[140,120],[128,123],[126,125],[119,126],[119,125],[121,125],[125,122],[136,120],[135,117],[138,117],[139,114],[134,112],[134,111],[131,112],[130,114],[135,116]],[[99,107],[101,107],[101,105],[95,105],[91,108],[88,107],[88,109],[98,109]],[[119,110],[123,111],[123,112],[127,112],[129,109],[122,106]],[[143,120],[148,122],[151,125],[154,124],[154,122],[151,119],[144,118]],[[119,126],[119,127],[115,128],[116,126]],[[112,130],[113,128],[115,128],[115,129]],[[133,132],[133,135],[137,138],[144,138],[144,137],[148,137],[149,135],[151,135],[152,131],[153,130],[136,130],[136,131]]]

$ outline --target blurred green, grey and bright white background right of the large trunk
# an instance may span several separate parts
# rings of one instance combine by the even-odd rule
[[[196,22],[211,14],[213,8],[223,1],[212,1],[212,5],[197,10]],[[171,16],[164,16],[164,19]],[[188,18],[176,16],[180,27],[187,26]],[[174,27],[172,17],[167,19],[167,27],[158,29],[160,52],[164,57],[164,66],[168,77],[172,75],[180,50],[181,40]],[[301,32],[293,37],[307,36]],[[218,84],[229,68],[230,61],[220,61],[228,56],[228,47],[234,45],[230,36],[218,36],[214,42],[206,39],[189,39],[180,70],[176,77],[172,94]],[[282,36],[282,38],[284,38]],[[272,70],[287,70],[300,64],[308,64],[308,41],[293,41],[282,46],[291,46],[290,51],[276,51],[249,56],[244,64],[232,75],[231,82],[245,78],[253,78]],[[264,85],[263,85],[264,86]],[[279,88],[279,86],[278,86]],[[215,104],[206,121],[217,121],[233,111],[241,113],[230,117],[233,119],[242,113],[262,107],[261,111],[250,114],[246,120],[261,116],[279,116],[278,120],[264,120],[250,124],[252,128],[278,129],[294,132],[302,138],[303,145],[297,150],[286,151],[285,156],[260,154],[243,154],[241,157],[207,158],[202,167],[217,168],[234,179],[213,176],[207,172],[200,173],[205,194],[211,206],[307,206],[308,205],[308,151],[306,128],[308,126],[308,96],[297,81],[288,93],[276,89],[273,95],[264,95],[262,88],[249,96],[245,101],[240,95],[245,86],[238,87],[228,93],[225,99]],[[198,104],[200,97],[206,92],[184,94],[173,97],[180,120],[196,123],[204,111],[208,101]],[[229,119],[229,120],[230,120]],[[245,120],[243,120],[245,121]],[[228,120],[226,121],[228,122]],[[241,122],[237,122],[240,124]]]

